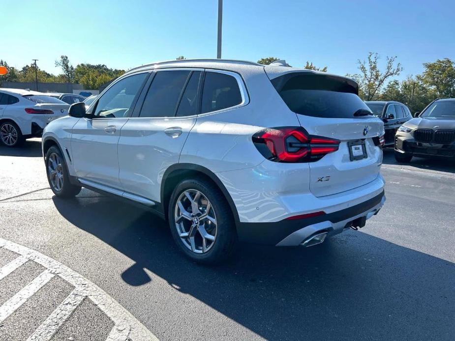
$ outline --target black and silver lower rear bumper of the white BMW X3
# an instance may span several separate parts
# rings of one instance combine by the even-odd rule
[[[379,195],[357,205],[322,216],[274,223],[240,223],[237,233],[243,242],[297,246],[311,235],[322,232],[334,235],[349,228],[358,218],[371,218],[379,212],[385,200],[384,191],[382,191]]]

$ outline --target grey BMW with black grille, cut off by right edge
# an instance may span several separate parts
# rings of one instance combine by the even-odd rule
[[[405,124],[395,136],[395,158],[411,161],[417,156],[455,156],[455,98],[437,99]]]

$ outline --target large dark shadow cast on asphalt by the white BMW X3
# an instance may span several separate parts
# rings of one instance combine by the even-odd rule
[[[135,261],[118,274],[126,283],[151,281],[148,269],[265,339],[455,339],[452,262],[346,231],[307,249],[242,245],[229,263],[201,266],[150,212],[105,197],[53,200],[74,226]]]

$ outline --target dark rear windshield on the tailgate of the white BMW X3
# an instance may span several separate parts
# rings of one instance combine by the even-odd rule
[[[327,118],[369,117],[370,109],[349,79],[318,74],[291,73],[272,84],[288,108],[297,114]]]

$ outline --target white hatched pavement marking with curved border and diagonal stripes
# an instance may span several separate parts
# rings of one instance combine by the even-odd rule
[[[37,251],[31,250],[25,246],[10,242],[2,238],[0,238],[0,248],[1,247],[6,250],[15,252],[21,256],[16,258],[16,262],[12,261],[1,268],[0,274],[11,273],[27,260],[32,260],[44,266],[47,270],[44,271],[35,280],[33,280],[28,286],[19,291],[19,293],[14,295],[0,308],[0,322],[11,313],[13,313],[18,307],[20,307],[20,305],[22,305],[28,298],[30,298],[33,293],[35,293],[44,284],[49,282],[49,280],[55,275],[60,276],[63,280],[75,287],[73,292],[61,303],[61,305],[55,309],[54,312],[51,313],[51,315],[34,331],[34,333],[29,338],[30,341],[49,340],[52,338],[59,327],[65,322],[65,320],[68,319],[71,313],[80,305],[85,297],[89,298],[93,304],[95,304],[114,322],[114,327],[107,337],[107,340],[158,340],[142,323],[140,323],[131,313],[125,310],[105,291],[103,291],[95,284],[91,283],[89,280],[77,272],[71,270],[67,266]],[[20,264],[21,262],[22,264]],[[41,286],[39,286],[39,284],[41,284]],[[28,289],[26,289],[27,287]],[[3,309],[4,306],[5,308]],[[2,316],[5,317],[1,319]]]

